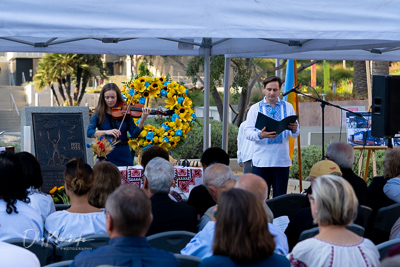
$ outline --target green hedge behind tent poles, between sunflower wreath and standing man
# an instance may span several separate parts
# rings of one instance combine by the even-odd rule
[[[170,155],[175,159],[199,159],[203,154],[203,123],[202,119],[196,119],[193,129],[178,145],[170,149]],[[222,147],[222,122],[210,120],[211,123],[211,146]],[[239,128],[229,124],[228,154],[230,158],[236,158],[237,134]]]

